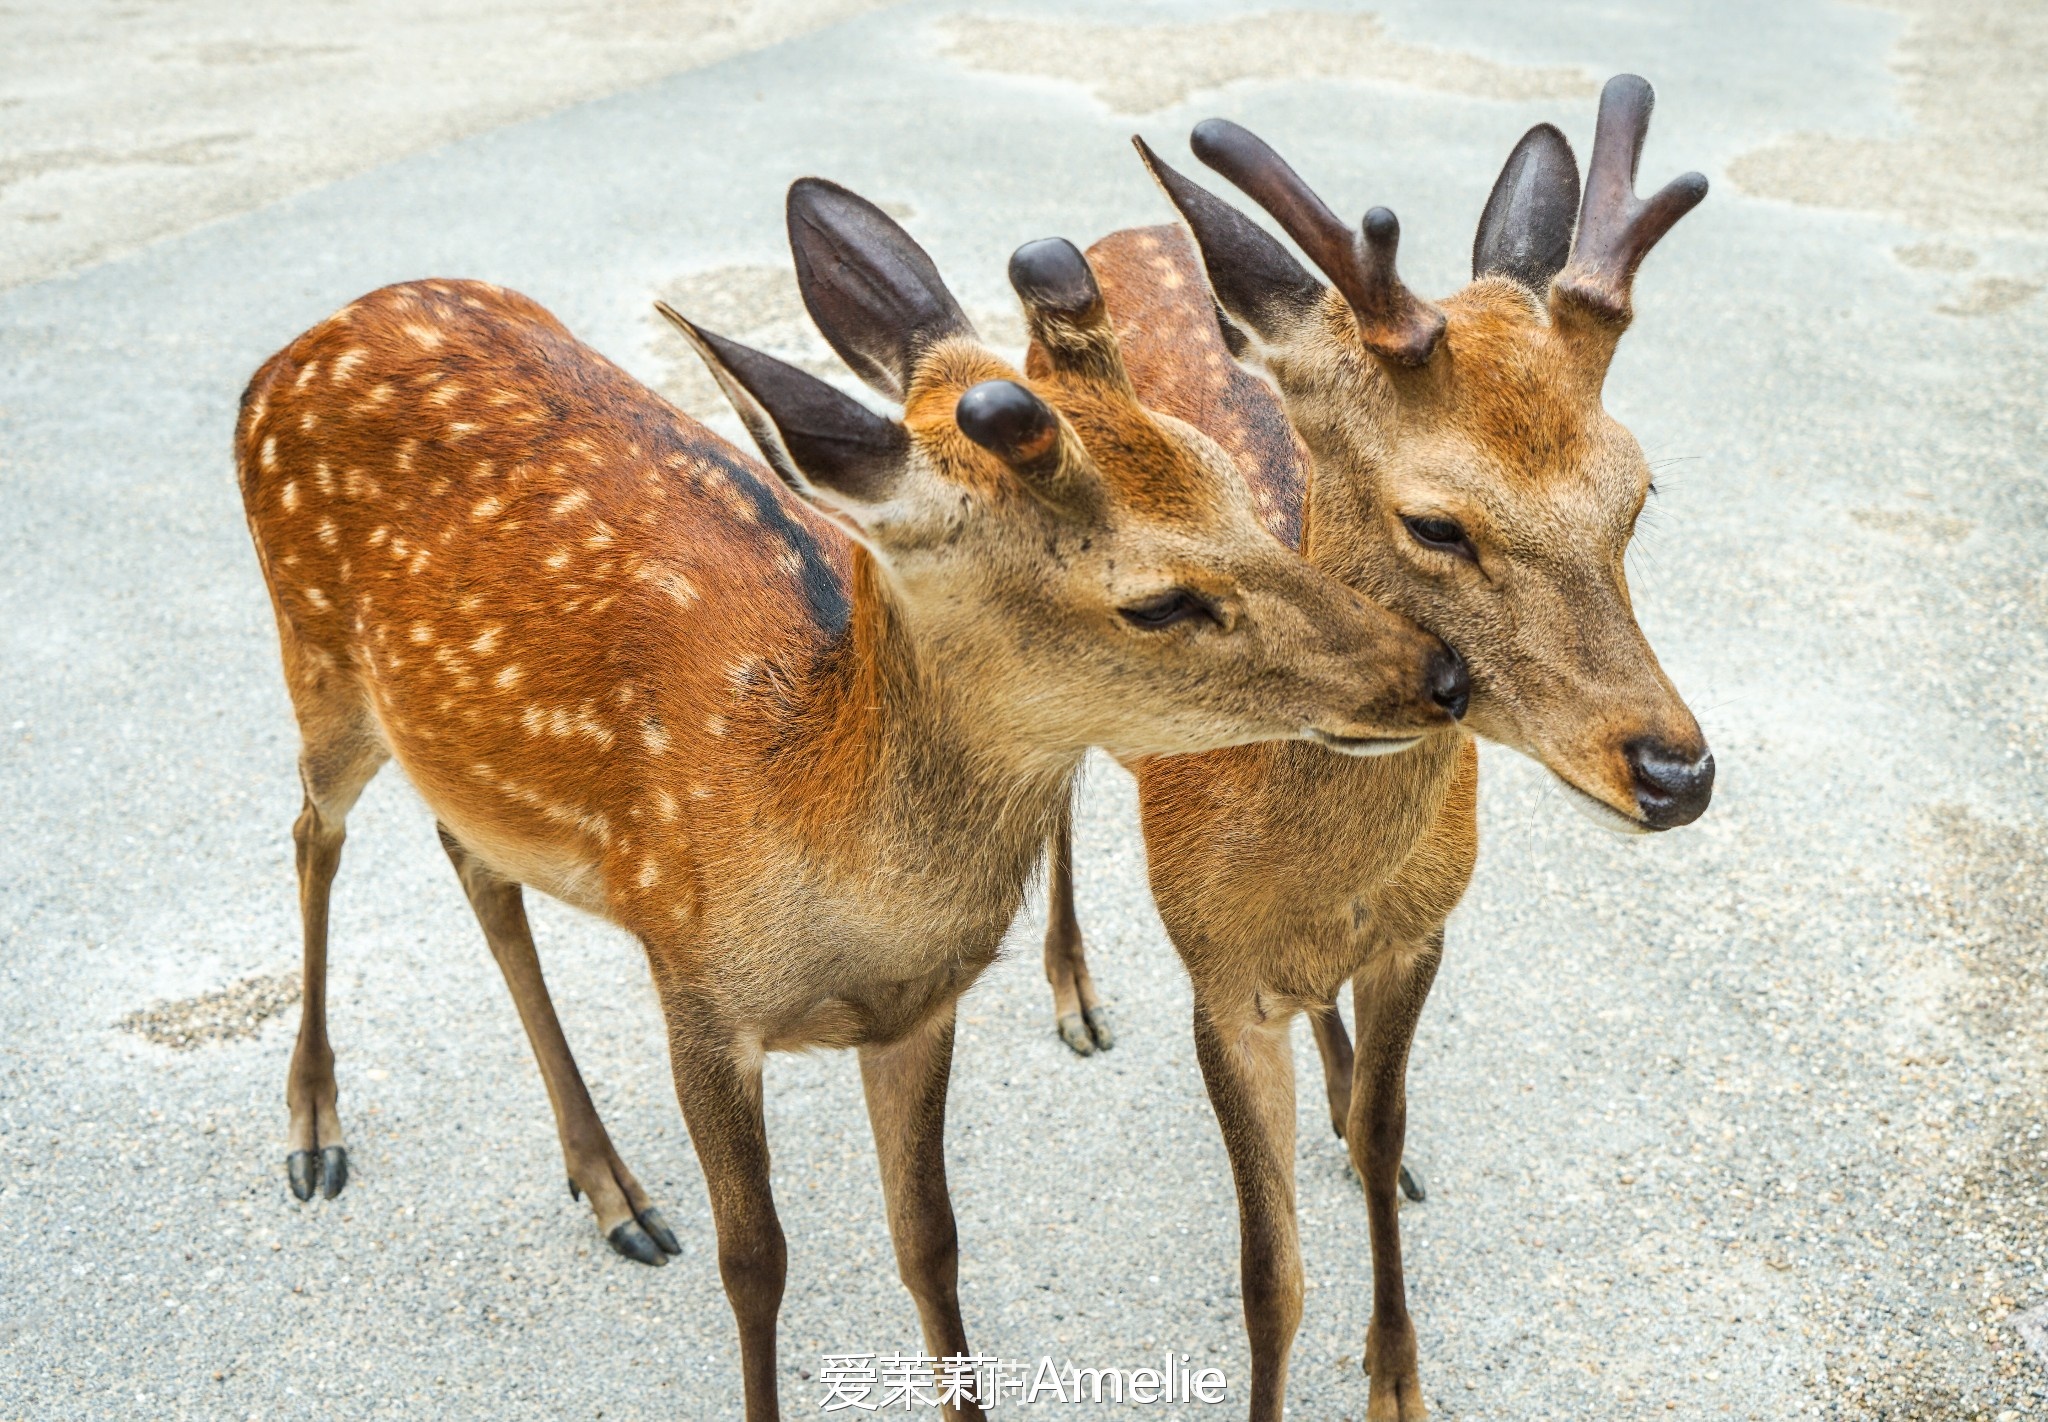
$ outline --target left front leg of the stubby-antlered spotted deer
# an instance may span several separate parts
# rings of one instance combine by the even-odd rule
[[[657,986],[676,1098],[719,1229],[719,1279],[739,1324],[745,1420],[778,1422],[774,1332],[788,1248],[768,1184],[760,1049],[748,1049],[694,984],[664,975]]]

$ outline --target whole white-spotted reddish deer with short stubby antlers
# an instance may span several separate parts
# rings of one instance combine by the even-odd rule
[[[967,1352],[954,1000],[1083,748],[1364,754],[1464,699],[1436,637],[1284,549],[1206,436],[1139,406],[1073,246],[1012,260],[1051,352],[1024,383],[866,201],[801,180],[788,227],[813,318],[903,418],[670,311],[772,475],[532,301],[457,281],[299,336],[236,430],[303,738],[293,1190],[346,1180],[328,893],[348,807],[397,758],[504,969],[571,1190],[657,1264],[676,1240],[592,1109],[522,885],[645,945],[756,1422],[784,1279],[762,1053],[860,1049],[903,1281],[928,1346]]]

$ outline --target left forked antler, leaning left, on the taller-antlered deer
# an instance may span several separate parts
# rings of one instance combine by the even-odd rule
[[[1391,211],[1374,207],[1352,232],[1280,154],[1229,119],[1196,125],[1190,143],[1196,158],[1272,213],[1343,293],[1368,350],[1395,365],[1430,361],[1444,338],[1444,313],[1401,283],[1401,221]]]

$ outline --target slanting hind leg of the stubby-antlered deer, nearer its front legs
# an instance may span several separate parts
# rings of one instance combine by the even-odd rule
[[[569,1170],[569,1195],[590,1199],[598,1231],[616,1252],[641,1264],[666,1264],[670,1254],[682,1254],[682,1246],[676,1244],[662,1211],[647,1199],[647,1190],[618,1160],[612,1137],[590,1100],[590,1088],[575,1068],[561,1018],[555,1016],[555,1000],[547,996],[520,885],[492,873],[463,848],[449,826],[438,828],[440,846],[449,850],[449,861],[463,881],[463,893],[469,895],[469,908],[477,914],[483,940],[498,959],[498,971],[504,973],[512,1006],[518,1008],[526,1041],[541,1063],[547,1100],[555,1109],[555,1131],[561,1135],[561,1158]]]

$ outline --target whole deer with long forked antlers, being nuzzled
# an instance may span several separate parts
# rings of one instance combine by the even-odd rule
[[[1636,264],[1706,195],[1686,174],[1636,199],[1649,115],[1649,84],[1606,86],[1583,203],[1563,133],[1530,129],[1481,217],[1473,283],[1442,303],[1401,283],[1391,211],[1350,229],[1225,121],[1194,131],[1196,156],[1278,219],[1329,287],[1143,139],[1194,242],[1147,227],[1090,252],[1139,395],[1223,443],[1311,563],[1415,617],[1470,668],[1464,721],[1389,760],[1276,742],[1133,762],[1153,895],[1194,984],[1196,1057],[1237,1180],[1257,1420],[1280,1416],[1303,1307],[1298,1012],[1366,1193],[1368,1416],[1425,1416],[1395,1188],[1409,1041],[1477,854],[1473,736],[1530,754],[1618,830],[1690,824],[1712,793],[1712,754],[1628,600],[1622,559],[1651,471],[1599,400]],[[1085,1055],[1108,1035],[1065,826],[1049,859],[1047,975],[1061,1035]],[[1346,981],[1356,1053],[1335,1010]]]

